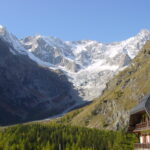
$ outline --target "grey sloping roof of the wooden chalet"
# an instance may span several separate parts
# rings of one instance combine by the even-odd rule
[[[134,107],[130,111],[130,114],[132,115],[143,110],[145,110],[150,116],[150,93],[144,96],[144,98],[142,99],[142,102],[138,104],[136,107]]]

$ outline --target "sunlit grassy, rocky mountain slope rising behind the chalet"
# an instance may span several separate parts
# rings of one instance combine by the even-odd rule
[[[58,122],[87,127],[120,129],[127,127],[129,112],[150,92],[150,41],[131,65],[116,75],[101,97],[85,108],[70,112]]]

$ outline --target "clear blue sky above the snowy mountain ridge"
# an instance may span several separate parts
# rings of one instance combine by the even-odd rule
[[[121,41],[150,30],[150,0],[0,0],[0,24],[18,38]]]

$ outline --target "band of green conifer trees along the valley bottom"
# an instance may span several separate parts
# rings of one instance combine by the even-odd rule
[[[37,123],[2,128],[0,150],[133,150],[135,140],[123,131]]]

